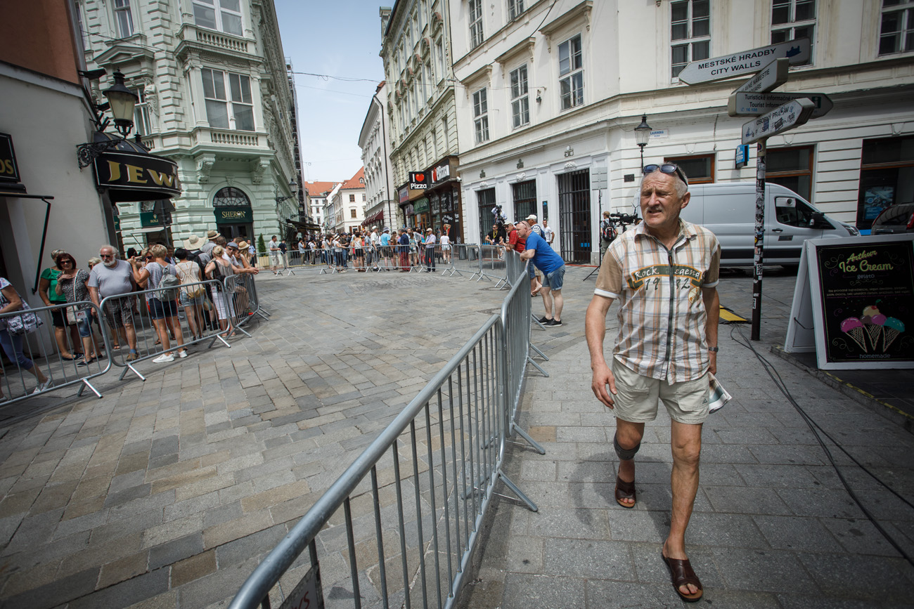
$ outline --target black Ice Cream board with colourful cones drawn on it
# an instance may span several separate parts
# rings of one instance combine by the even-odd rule
[[[914,236],[814,241],[819,367],[914,368]]]

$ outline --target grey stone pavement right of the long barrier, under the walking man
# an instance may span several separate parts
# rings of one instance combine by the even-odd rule
[[[617,507],[614,421],[590,392],[583,336],[593,282],[575,289],[583,270],[566,276],[561,331],[533,331],[532,340],[550,358],[543,363],[549,377],[529,373],[520,423],[546,455],[515,446],[505,467],[539,511],[497,499],[462,607],[682,605],[660,559],[671,500],[669,417],[661,408],[647,425],[636,457],[635,509]],[[819,425],[914,501],[914,436],[769,352],[782,344],[794,280],[780,269],[765,278],[757,348]],[[719,289],[721,304],[747,319],[751,282],[731,271]],[[749,326],[743,328],[748,337]],[[704,426],[701,486],[686,534],[705,585],[702,603],[728,609],[914,606],[914,568],[850,499],[800,415],[727,326],[719,345],[718,378],[734,400]],[[826,443],[867,509],[914,555],[914,509]]]

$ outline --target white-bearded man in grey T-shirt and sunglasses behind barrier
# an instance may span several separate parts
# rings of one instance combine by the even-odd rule
[[[120,296],[134,291],[133,267],[129,262],[119,260],[117,249],[114,246],[101,246],[99,249],[101,264],[92,267],[89,274],[89,298],[96,307],[101,307],[101,300],[109,296]],[[112,299],[106,303],[102,311],[108,323],[121,335],[121,340],[126,338],[130,352],[125,358],[128,362],[139,359],[136,352],[136,331],[133,330],[133,306],[131,299]]]

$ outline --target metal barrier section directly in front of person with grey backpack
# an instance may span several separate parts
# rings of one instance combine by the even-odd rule
[[[244,274],[244,276],[247,275]],[[218,279],[207,279],[198,283],[181,284],[180,288],[193,288],[195,286],[203,286],[207,294],[203,296],[201,305],[191,307],[191,311],[185,310],[186,315],[194,315],[193,324],[187,319],[186,323],[181,323],[180,313],[184,307],[177,298],[174,300],[160,299],[165,307],[175,312],[173,316],[170,316],[175,320],[172,325],[168,326],[167,322],[165,323],[166,331],[168,332],[168,349],[165,349],[165,341],[156,331],[151,311],[147,307],[145,298],[146,294],[153,294],[155,298],[159,299],[161,289],[144,289],[128,294],[109,296],[101,300],[100,308],[104,312],[102,319],[106,323],[113,324],[116,322],[116,312],[120,313],[122,318],[122,325],[118,327],[112,325],[112,331],[116,331],[121,335],[121,349],[112,357],[112,363],[123,369],[119,380],[123,379],[124,375],[130,371],[145,381],[146,377],[136,369],[135,364],[153,359],[163,355],[165,352],[172,352],[175,355],[175,359],[177,359],[177,352],[189,345],[204,341],[209,342],[207,348],[212,347],[216,341],[222,342],[226,347],[231,347],[223,334],[228,334],[235,327],[234,303],[232,299],[226,298],[222,282]],[[226,328],[221,328],[220,321],[226,322]],[[177,327],[175,328],[175,326]],[[192,333],[192,326],[196,330],[196,335]],[[247,332],[244,333],[250,336]],[[180,341],[178,341],[179,336]],[[132,344],[135,346],[132,346]],[[136,351],[135,357],[131,357],[132,349]]]

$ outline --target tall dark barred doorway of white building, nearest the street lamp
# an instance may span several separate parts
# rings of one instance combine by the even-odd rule
[[[590,264],[590,170],[558,176],[558,231],[562,259]]]

